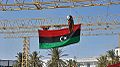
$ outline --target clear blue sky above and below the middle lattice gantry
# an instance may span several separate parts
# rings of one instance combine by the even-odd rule
[[[109,16],[120,14],[120,5],[46,9],[46,10],[24,10],[24,11],[0,11],[0,20],[16,18],[48,18],[72,16]],[[67,23],[67,22],[66,22]],[[22,38],[0,38],[0,59],[16,59],[18,52],[22,52]],[[39,52],[40,55],[49,57],[48,50],[39,49],[38,38],[30,38],[30,53]],[[64,53],[69,54],[68,58],[95,57],[103,55],[106,51],[118,46],[118,35],[111,36],[81,36],[80,42],[62,47]]]

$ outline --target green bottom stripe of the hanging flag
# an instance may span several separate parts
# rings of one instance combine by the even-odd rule
[[[55,48],[55,47],[62,47],[69,44],[77,43],[80,41],[80,36],[70,38],[68,40],[62,42],[54,42],[54,43],[39,43],[39,48],[48,49],[48,48]]]

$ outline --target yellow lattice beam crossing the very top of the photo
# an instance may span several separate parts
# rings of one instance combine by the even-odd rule
[[[42,10],[118,5],[119,0],[0,0],[0,11]]]

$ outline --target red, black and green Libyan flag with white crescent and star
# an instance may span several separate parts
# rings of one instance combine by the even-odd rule
[[[73,32],[69,28],[60,30],[38,30],[39,48],[49,49],[63,47],[80,41],[81,24],[74,25]]]

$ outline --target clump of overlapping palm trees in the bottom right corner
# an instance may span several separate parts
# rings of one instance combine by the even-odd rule
[[[106,55],[97,58],[98,67],[107,67],[108,64],[116,64],[119,62],[119,56],[115,55],[114,50],[107,51]]]

